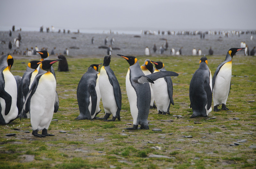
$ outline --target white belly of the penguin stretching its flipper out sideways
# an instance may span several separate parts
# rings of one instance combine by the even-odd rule
[[[130,103],[130,111],[132,114],[133,118],[133,125],[138,125],[139,123],[137,122],[138,118],[138,108],[137,108],[137,94],[135,89],[132,87],[132,84],[130,82],[130,69],[128,69],[128,72],[126,74],[126,80],[125,80],[125,86],[126,86],[126,93],[128,96],[128,100]]]

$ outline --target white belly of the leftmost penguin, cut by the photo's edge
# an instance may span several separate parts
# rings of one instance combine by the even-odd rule
[[[3,98],[0,98],[0,103],[2,107],[2,116],[4,118],[4,121],[6,123],[9,123],[11,120],[15,119],[18,116],[18,108],[17,108],[17,83],[12,75],[12,73],[9,71],[8,67],[4,69],[4,90],[11,95],[12,97],[12,105],[11,109],[8,113],[8,115],[4,115],[5,113],[5,101]]]

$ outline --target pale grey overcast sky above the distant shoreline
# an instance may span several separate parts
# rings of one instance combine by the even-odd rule
[[[256,0],[1,0],[0,27],[255,30]]]

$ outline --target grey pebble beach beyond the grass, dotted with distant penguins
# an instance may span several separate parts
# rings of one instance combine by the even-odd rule
[[[17,28],[15,28],[17,29]],[[254,34],[254,39],[250,40],[251,34],[241,34],[232,35],[229,37],[224,37],[223,35],[205,35],[204,39],[200,39],[200,35],[144,35],[141,31],[133,31],[126,33],[112,33],[99,32],[93,30],[87,30],[87,33],[76,34],[77,30],[70,30],[71,33],[60,33],[56,32],[39,32],[39,28],[36,31],[26,31],[23,28],[22,31],[12,32],[12,36],[9,36],[9,31],[0,31],[0,41],[5,41],[5,44],[0,44],[0,53],[12,53],[16,46],[13,42],[14,38],[17,37],[18,33],[21,35],[20,48],[17,51],[25,51],[26,48],[30,49],[31,46],[35,48],[37,46],[39,49],[42,47],[48,48],[50,53],[53,47],[56,47],[55,53],[63,53],[65,48],[69,49],[69,55],[73,56],[105,56],[107,55],[107,49],[100,49],[99,46],[104,46],[104,39],[108,37],[108,44],[110,45],[110,39],[114,38],[115,43],[112,47],[118,47],[120,50],[113,50],[112,55],[123,54],[123,55],[144,55],[145,47],[148,46],[152,56],[159,55],[159,47],[164,44],[167,39],[168,48],[164,51],[164,55],[170,55],[171,48],[175,49],[175,52],[182,48],[182,55],[192,55],[192,49],[201,49],[202,55],[208,55],[209,48],[212,47],[214,55],[226,55],[228,49],[231,47],[240,47],[241,41],[245,41],[248,45],[249,50],[253,46],[256,46],[256,34]],[[51,29],[50,29],[51,31]],[[90,32],[91,31],[91,32]],[[67,30],[66,30],[67,32]],[[82,32],[82,30],[80,30]],[[134,35],[139,35],[140,38],[134,37]],[[91,39],[94,37],[94,44],[91,43]],[[9,41],[12,42],[12,49],[8,49]],[[157,51],[153,53],[153,45],[156,44]],[[70,47],[75,46],[79,49],[72,49]],[[238,52],[237,55],[243,54],[243,51]]]

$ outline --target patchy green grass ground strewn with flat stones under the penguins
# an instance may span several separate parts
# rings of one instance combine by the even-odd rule
[[[146,59],[145,56],[137,58],[140,64],[143,64]],[[0,126],[0,168],[255,167],[255,161],[247,162],[247,159],[255,159],[255,150],[248,148],[255,144],[256,103],[248,102],[255,100],[256,96],[254,57],[234,56],[232,65],[234,76],[231,79],[231,90],[227,101],[230,111],[211,112],[210,115],[217,117],[211,120],[204,117],[189,119],[192,115],[192,109],[189,108],[189,83],[192,74],[199,67],[200,57],[157,56],[153,58],[154,61],[162,61],[167,70],[179,73],[178,77],[172,77],[175,105],[171,105],[170,115],[165,116],[158,115],[156,109],[151,109],[148,116],[151,124],[149,130],[125,130],[124,132],[122,132],[124,128],[132,126],[129,124],[132,123],[132,116],[125,89],[125,76],[129,66],[127,61],[121,57],[112,56],[110,67],[116,74],[122,92],[121,121],[104,122],[103,120],[75,120],[79,115],[76,100],[77,84],[91,64],[103,62],[103,56],[102,58],[68,57],[67,59],[70,72],[55,72],[60,111],[53,114],[53,119],[58,119],[58,122],[51,122],[49,128],[49,133],[55,136],[45,138],[32,136],[29,119],[21,121],[17,119],[11,124]],[[220,60],[224,59],[225,56],[208,57],[208,67],[211,69],[212,76]],[[14,59],[12,74],[22,76],[26,65],[21,62],[29,61]],[[58,65],[53,66],[56,70]],[[100,109],[98,116],[103,117],[105,113],[101,102]],[[177,119],[172,115],[182,115],[183,118]],[[240,120],[233,120],[234,117]],[[168,119],[172,119],[173,122],[160,121]],[[201,123],[194,124],[194,122]],[[194,128],[187,127],[188,125]],[[14,128],[20,130],[13,130]],[[154,132],[152,131],[154,128],[160,128],[162,131]],[[23,132],[26,130],[30,133]],[[59,133],[60,130],[67,133]],[[252,135],[242,134],[251,131]],[[7,137],[5,136],[7,133],[16,133],[16,136]],[[184,138],[182,137],[184,135],[191,135],[193,138]],[[176,141],[181,138],[185,141]],[[229,146],[240,139],[247,139],[247,141],[243,143],[244,145]],[[153,143],[149,144],[148,141]],[[156,150],[152,147],[160,148]],[[82,151],[75,151],[77,149]],[[147,158],[150,154],[175,158]],[[35,159],[32,162],[26,162],[23,155],[34,155]],[[200,159],[194,160],[196,157]],[[48,158],[51,160],[45,160]]]

